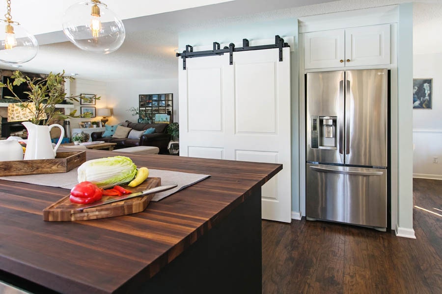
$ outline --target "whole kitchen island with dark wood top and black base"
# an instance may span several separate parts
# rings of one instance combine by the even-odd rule
[[[0,180],[0,280],[32,293],[261,293],[261,186],[282,165],[129,157],[211,177],[141,213],[72,222],[43,221],[67,190]]]

